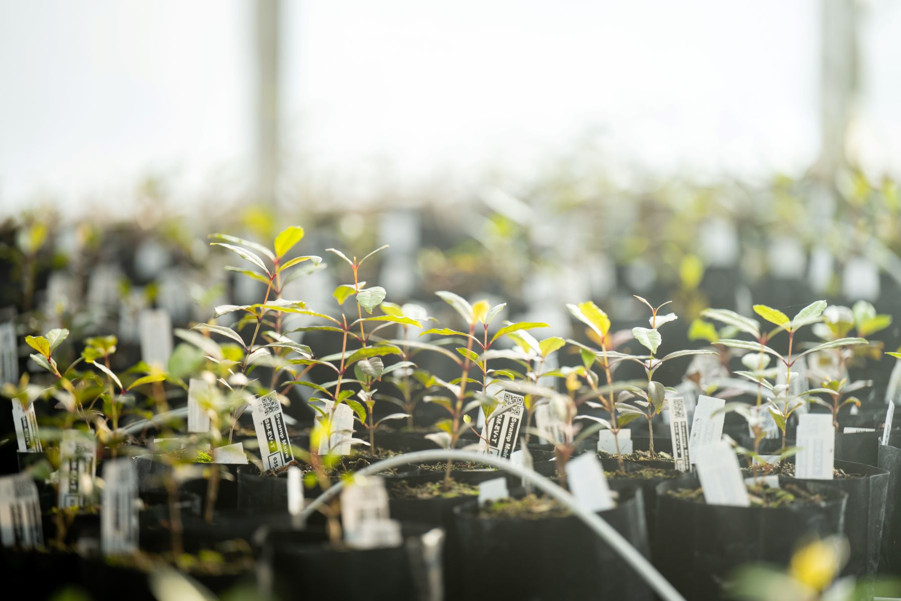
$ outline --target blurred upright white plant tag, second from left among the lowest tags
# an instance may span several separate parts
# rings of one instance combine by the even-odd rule
[[[138,551],[138,474],[128,458],[104,464],[104,503],[100,509],[100,544],[106,555]]]

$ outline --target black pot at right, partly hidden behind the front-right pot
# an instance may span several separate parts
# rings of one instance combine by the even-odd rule
[[[822,483],[848,494],[848,510],[845,512],[844,535],[851,545],[848,565],[842,576],[871,576],[879,563],[879,542],[882,540],[882,524],[886,514],[888,490],[887,469],[876,468],[851,461],[835,461],[835,468],[860,478],[833,480],[787,481]]]

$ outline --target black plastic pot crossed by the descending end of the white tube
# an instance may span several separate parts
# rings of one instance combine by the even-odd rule
[[[455,598],[652,598],[643,580],[578,517],[486,519],[478,517],[477,500],[458,505],[454,515],[464,592]],[[598,515],[647,555],[640,488],[623,489],[617,506]]]

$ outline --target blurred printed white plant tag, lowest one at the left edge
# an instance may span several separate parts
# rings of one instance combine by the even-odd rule
[[[27,474],[0,478],[0,541],[5,547],[44,546],[38,487]]]

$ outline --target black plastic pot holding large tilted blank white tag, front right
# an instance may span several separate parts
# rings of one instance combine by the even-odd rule
[[[670,490],[700,486],[696,478],[657,487],[656,561],[687,599],[723,599],[721,583],[752,561],[786,565],[798,543],[842,533],[847,493],[822,484],[799,484],[824,496],[822,505],[780,508],[706,505]]]

